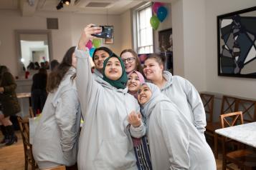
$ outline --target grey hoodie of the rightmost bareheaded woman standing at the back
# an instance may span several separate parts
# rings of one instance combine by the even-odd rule
[[[172,76],[170,72],[163,71],[166,84],[161,88],[165,94],[178,106],[182,114],[204,134],[207,126],[204,105],[196,88],[181,76]]]

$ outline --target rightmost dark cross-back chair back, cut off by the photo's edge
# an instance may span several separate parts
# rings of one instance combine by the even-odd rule
[[[238,99],[237,111],[242,111],[245,122],[256,121],[256,101],[247,99]]]

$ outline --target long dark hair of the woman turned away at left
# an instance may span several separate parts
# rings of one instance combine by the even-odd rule
[[[49,78],[47,81],[47,91],[52,93],[54,89],[57,89],[57,87],[60,85],[60,82],[62,81],[63,77],[67,73],[67,71],[70,69],[70,66],[72,66],[72,54],[75,52],[75,46],[70,47],[70,49],[67,50],[65,56],[62,59],[62,62],[59,66],[57,66],[57,69],[54,69],[49,74]],[[76,74],[71,76],[71,79],[75,79]]]

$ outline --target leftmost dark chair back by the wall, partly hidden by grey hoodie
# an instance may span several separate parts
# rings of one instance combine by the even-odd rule
[[[200,96],[204,104],[204,110],[207,116],[207,122],[212,122],[213,111],[214,111],[214,95],[201,93]]]

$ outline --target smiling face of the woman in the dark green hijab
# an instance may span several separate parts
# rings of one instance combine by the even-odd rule
[[[105,76],[110,80],[118,80],[122,76],[122,66],[116,57],[111,57],[105,66]]]

